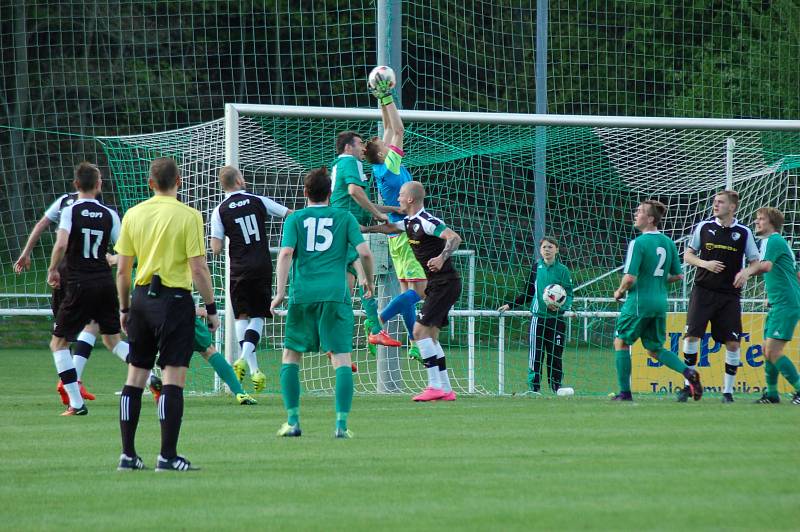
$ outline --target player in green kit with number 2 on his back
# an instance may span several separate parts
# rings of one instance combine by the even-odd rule
[[[689,368],[678,355],[664,349],[667,330],[667,285],[683,278],[678,249],[658,230],[667,212],[663,203],[643,201],[634,213],[634,227],[642,234],[628,245],[624,275],[614,299],[622,306],[614,331],[614,351],[620,393],[615,401],[632,401],[630,346],[639,338],[651,357],[683,374],[692,398],[703,395],[700,374]]]

